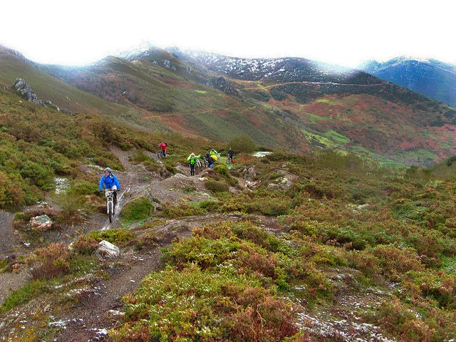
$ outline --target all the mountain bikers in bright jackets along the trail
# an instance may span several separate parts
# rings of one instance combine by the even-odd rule
[[[167,142],[160,142],[158,147],[162,151],[162,156],[166,157],[166,151],[167,151]],[[195,175],[195,165],[197,164],[197,160],[201,157],[201,155],[195,155],[195,153],[191,153],[187,157],[188,165],[190,166],[190,175],[194,176]],[[207,166],[212,168],[215,165],[215,162],[217,162],[219,158],[219,152],[216,150],[212,149],[209,152],[207,152],[204,155],[204,160],[207,162]],[[234,151],[232,150],[231,147],[229,147],[228,151],[228,160],[227,162],[234,162]],[[105,188],[105,191],[111,190],[114,193],[114,207],[117,204],[117,191],[120,190],[120,183],[117,177],[113,174],[113,170],[110,169],[110,167],[106,167],[104,171],[104,174],[100,178],[100,182],[98,184],[98,190],[100,192],[103,192],[103,187]]]

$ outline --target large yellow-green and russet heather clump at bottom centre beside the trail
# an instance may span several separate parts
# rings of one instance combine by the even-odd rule
[[[110,331],[114,341],[141,332],[150,341],[282,341],[298,332],[291,305],[253,277],[196,266],[150,274],[124,301],[128,322]]]

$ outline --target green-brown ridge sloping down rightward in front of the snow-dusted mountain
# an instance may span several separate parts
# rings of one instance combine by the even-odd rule
[[[180,68],[173,70],[161,62],[116,57],[82,68],[41,68],[105,100],[142,110],[140,118],[133,115],[130,120],[149,130],[156,130],[159,120],[162,127],[184,135],[224,142],[237,135],[250,135],[261,145],[309,152],[304,134],[281,113],[201,84],[195,81],[194,70],[182,73]]]

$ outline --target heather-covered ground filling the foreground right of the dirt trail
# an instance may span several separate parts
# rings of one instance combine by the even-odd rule
[[[170,210],[238,218],[207,216],[166,249],[167,267],[125,296],[115,341],[447,341],[456,333],[454,177],[398,174],[332,152],[244,156],[208,177],[254,186]]]

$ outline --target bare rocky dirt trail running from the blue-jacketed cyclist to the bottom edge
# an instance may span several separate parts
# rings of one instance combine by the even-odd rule
[[[172,177],[160,179],[143,165],[132,165],[128,152],[115,148],[110,150],[119,157],[125,167],[124,171],[115,172],[122,191],[118,195],[118,208],[113,223],[109,223],[107,216],[103,222],[100,222],[98,217],[98,224],[100,224],[98,229],[122,227],[120,213],[123,206],[133,197],[141,195],[154,197],[162,204],[211,197],[204,188],[202,178],[187,177],[178,173]],[[188,187],[195,189],[195,192],[185,193],[184,190]],[[121,250],[121,256],[118,259],[105,261],[108,264],[115,263],[120,266],[108,266],[110,278],[93,282],[88,296],[80,301],[79,306],[68,309],[58,317],[59,321],[66,323],[56,341],[110,341],[110,338],[105,336],[105,331],[115,326],[119,319],[112,313],[121,308],[121,297],[134,291],[147,274],[162,267],[159,247],[169,244],[174,238],[190,237],[193,228],[201,227],[208,219],[222,220],[227,219],[227,216],[209,215],[208,217],[167,219],[163,224],[155,227],[163,232],[160,246],[146,252],[135,252],[133,247],[127,247]],[[234,219],[235,216],[233,216]],[[97,219],[93,221],[95,224]]]

